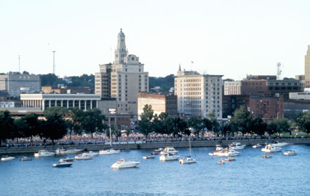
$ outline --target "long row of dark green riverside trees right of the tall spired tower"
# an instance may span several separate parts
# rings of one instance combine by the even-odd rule
[[[288,122],[287,119],[273,119],[271,122],[263,122],[263,119],[254,118],[251,112],[244,107],[235,110],[233,117],[228,123],[219,124],[216,120],[214,112],[208,114],[208,118],[189,117],[181,119],[180,117],[167,116],[166,113],[154,115],[151,105],[145,105],[142,115],[138,122],[137,129],[148,136],[149,133],[167,133],[181,135],[191,132],[199,136],[201,131],[212,131],[216,134],[224,136],[233,136],[235,133],[252,134],[269,136],[275,133],[291,133],[291,127],[297,126],[300,131],[310,133],[310,111],[300,114],[293,122]]]

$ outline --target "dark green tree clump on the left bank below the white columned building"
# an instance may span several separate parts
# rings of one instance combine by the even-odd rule
[[[67,133],[102,132],[107,128],[103,123],[104,115],[94,108],[83,111],[77,107],[51,107],[44,110],[44,119],[31,114],[13,119],[10,112],[0,112],[0,141],[14,138],[40,138],[54,140],[63,138]]]

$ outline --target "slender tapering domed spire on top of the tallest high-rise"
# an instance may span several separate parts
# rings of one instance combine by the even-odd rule
[[[118,45],[115,51],[114,63],[125,63],[127,55],[128,51],[125,44],[125,34],[123,33],[122,29],[120,29],[120,32],[118,33]]]

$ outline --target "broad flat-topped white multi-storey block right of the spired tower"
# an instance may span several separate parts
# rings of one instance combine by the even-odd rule
[[[213,110],[217,118],[222,118],[222,77],[179,69],[175,77],[178,112],[208,117]]]

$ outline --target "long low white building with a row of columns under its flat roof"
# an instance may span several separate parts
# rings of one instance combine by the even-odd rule
[[[23,107],[79,107],[82,110],[97,107],[97,102],[101,100],[100,95],[96,94],[21,94],[20,100]]]

